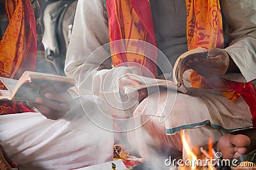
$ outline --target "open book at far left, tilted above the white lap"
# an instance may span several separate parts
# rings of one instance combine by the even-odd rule
[[[0,100],[35,101],[45,92],[63,92],[76,85],[73,78],[25,71],[19,80],[0,77],[7,90],[0,90]]]

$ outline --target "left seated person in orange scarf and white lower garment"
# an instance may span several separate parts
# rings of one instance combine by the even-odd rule
[[[18,79],[24,71],[56,74],[41,41],[37,1],[0,0],[0,23],[0,76]],[[0,113],[0,169],[17,164],[19,169],[75,169],[113,159],[113,134],[86,116],[103,121],[101,115],[108,115],[97,96],[72,99],[67,90],[47,92],[35,103],[0,101]],[[106,119],[104,124],[112,126]]]

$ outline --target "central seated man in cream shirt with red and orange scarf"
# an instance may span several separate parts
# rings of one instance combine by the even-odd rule
[[[192,146],[205,146],[211,137],[216,150],[223,152],[223,158],[238,157],[255,148],[252,142],[255,140],[255,129],[251,129],[255,126],[255,89],[250,83],[256,78],[255,6],[255,1],[242,0],[209,1],[209,4],[204,0],[80,0],[67,53],[66,74],[76,78],[80,94],[96,94],[106,99],[113,115],[131,113],[129,116],[141,118],[138,121],[143,126],[134,127],[136,132],[128,137],[134,146],[138,146],[143,158],[152,155],[147,152],[147,144],[154,148],[163,147],[164,150],[182,150],[181,129],[185,129]],[[187,15],[187,11],[192,14]],[[145,98],[143,94],[146,98],[138,105],[131,105],[134,107],[124,108],[122,112],[117,107],[121,99],[118,95],[121,93],[121,96],[125,96],[125,85],[138,84],[138,81],[125,77],[125,74],[143,74],[140,67],[127,67],[122,63],[129,61],[133,66],[139,63],[155,76],[162,73],[156,73],[156,66],[147,62],[146,57],[135,54],[126,56],[126,53],[118,55],[118,52],[127,51],[116,50],[115,44],[110,44],[109,50],[109,45],[105,45],[118,39],[128,39],[122,41],[125,47],[121,46],[120,49],[127,50],[132,46],[136,50],[128,52],[136,54],[147,52],[143,46],[136,46],[137,41],[131,39],[156,45],[170,62],[163,62],[159,56],[156,60],[154,54],[150,58],[157,62],[158,67],[167,67],[167,71],[163,69],[162,73],[170,73],[169,66],[173,66],[177,57],[187,50],[198,46],[207,48],[210,59],[189,60],[186,65],[194,71],[191,72],[191,78],[189,74],[184,74],[184,80],[189,84],[197,83],[198,86],[193,87],[201,88],[191,89],[193,96],[180,93],[176,96],[175,92],[166,90],[147,96],[148,92],[142,91],[139,92],[139,99]],[[112,63],[114,66],[122,66],[111,68]],[[202,79],[209,81],[208,87],[202,84]],[[246,95],[242,95],[246,90],[241,90],[241,94],[234,92],[234,89],[228,89],[223,83],[225,81],[236,82],[236,85],[244,82],[250,89],[251,102]],[[92,85],[89,86],[88,82],[92,82]],[[111,92],[115,96],[111,96]],[[234,92],[231,94],[234,97],[231,97],[232,101],[228,99],[230,92]],[[124,106],[127,102],[122,104]],[[162,114],[166,119],[160,123],[159,117]],[[249,130],[239,131],[241,129]],[[234,131],[239,134],[230,134]],[[145,137],[146,134],[149,134],[149,138]]]

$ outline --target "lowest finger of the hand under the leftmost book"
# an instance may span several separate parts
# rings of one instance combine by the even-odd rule
[[[56,110],[51,110],[51,108],[48,108],[46,106],[42,106],[37,103],[29,103],[29,105],[35,107],[42,115],[44,115],[46,118],[52,119],[52,120],[57,120],[58,118],[61,118],[65,116],[65,113],[67,111],[56,111]]]

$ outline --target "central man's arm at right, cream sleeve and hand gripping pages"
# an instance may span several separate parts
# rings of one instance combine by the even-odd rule
[[[256,78],[256,2],[220,0],[225,49],[209,50],[210,59],[195,58],[187,66],[207,78],[248,82]]]

